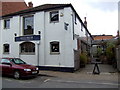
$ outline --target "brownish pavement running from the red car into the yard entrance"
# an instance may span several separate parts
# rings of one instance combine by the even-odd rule
[[[60,72],[60,71],[40,71],[42,75],[48,75],[51,77],[65,78],[69,80],[103,80],[103,81],[115,81],[118,82],[119,73],[111,65],[98,64],[100,74],[93,74],[94,64],[87,64],[85,68],[81,68],[74,73]]]

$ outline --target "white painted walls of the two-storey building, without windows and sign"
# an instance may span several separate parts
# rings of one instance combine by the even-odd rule
[[[35,44],[35,55],[21,55],[19,50],[19,44],[22,42],[14,41],[14,33],[17,36],[23,35],[23,16],[13,16],[10,18],[10,29],[3,29],[3,20],[1,22],[0,35],[0,57],[19,57],[25,60],[27,63],[39,66],[57,66],[57,67],[74,67],[74,49],[77,50],[77,39],[73,40],[73,16],[74,12],[70,7],[60,9],[60,20],[57,23],[51,23],[49,18],[50,11],[36,12],[34,14],[34,34],[38,35],[38,31],[41,31],[41,40],[32,41]],[[74,25],[75,34],[79,36],[81,23],[77,19],[77,25]],[[64,23],[68,23],[68,30],[64,29]],[[58,41],[60,43],[60,54],[50,54],[50,42]],[[3,44],[10,44],[10,54],[4,55],[2,52]],[[39,50],[38,50],[38,44]],[[38,55],[39,51],[39,55]],[[39,56],[39,57],[38,57]]]

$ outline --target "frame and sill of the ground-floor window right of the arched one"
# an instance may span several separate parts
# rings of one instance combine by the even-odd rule
[[[54,45],[55,49],[58,49],[58,50],[53,51],[53,50],[52,50],[53,45]],[[56,48],[56,46],[57,46],[57,48]],[[58,42],[58,41],[52,41],[52,42],[50,42],[50,54],[51,54],[51,55],[60,54],[60,42]]]

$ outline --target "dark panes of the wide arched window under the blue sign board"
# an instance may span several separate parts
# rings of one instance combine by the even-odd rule
[[[35,44],[32,42],[24,42],[20,44],[20,53],[35,53]]]

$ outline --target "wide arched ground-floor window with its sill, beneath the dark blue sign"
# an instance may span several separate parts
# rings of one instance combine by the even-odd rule
[[[33,47],[32,47],[32,45],[33,45]],[[33,42],[23,42],[19,45],[19,47],[20,47],[20,54],[22,54],[22,55],[35,55],[36,47],[35,47],[35,44]]]

